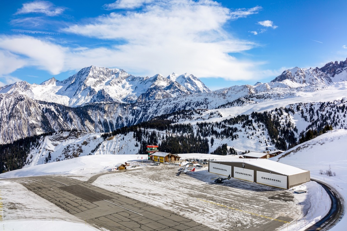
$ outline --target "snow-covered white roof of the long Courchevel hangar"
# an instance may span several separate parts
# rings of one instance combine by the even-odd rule
[[[210,161],[213,163],[220,163],[220,162],[242,162],[245,163],[245,165],[253,165],[260,168],[268,169],[269,171],[278,172],[283,175],[295,175],[302,172],[307,172],[307,170],[293,167],[290,165],[286,165],[284,163],[280,163],[277,161],[269,160],[269,159],[222,159],[222,160],[214,160]],[[247,168],[247,167],[246,167]]]

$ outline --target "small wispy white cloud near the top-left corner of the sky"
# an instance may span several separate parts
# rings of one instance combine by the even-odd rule
[[[15,15],[41,13],[47,16],[57,16],[62,14],[64,10],[64,7],[55,7],[53,3],[49,1],[33,1],[24,3],[23,7],[18,9]]]

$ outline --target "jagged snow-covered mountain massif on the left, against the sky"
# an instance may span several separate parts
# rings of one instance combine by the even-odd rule
[[[169,98],[210,91],[194,75],[164,78],[134,77],[124,70],[90,66],[63,81],[51,78],[40,85],[17,82],[0,88],[0,94],[22,94],[36,100],[79,106],[95,102],[127,102]]]

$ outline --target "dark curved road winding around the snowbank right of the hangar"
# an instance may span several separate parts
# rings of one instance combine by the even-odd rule
[[[331,207],[327,215],[305,231],[329,230],[342,219],[342,216],[344,215],[344,200],[334,188],[324,184],[322,181],[311,180],[316,181],[325,189],[325,191],[327,191],[331,200]]]

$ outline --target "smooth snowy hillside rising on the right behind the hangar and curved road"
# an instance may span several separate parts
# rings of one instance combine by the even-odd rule
[[[323,181],[331,187],[338,190],[343,196],[346,208],[347,198],[347,130],[333,130],[310,141],[302,143],[294,148],[282,153],[281,155],[271,158],[272,160],[286,163],[291,166],[310,170],[311,178]],[[289,154],[287,154],[289,153]],[[320,172],[331,170],[336,176],[322,175]],[[323,195],[312,197],[310,202],[312,205],[320,205]],[[325,206],[320,206],[319,209],[325,209]],[[312,209],[311,209],[312,210]],[[308,219],[307,219],[308,218]],[[306,222],[314,223],[310,219],[310,214],[306,216]],[[346,230],[347,217],[343,216],[342,220],[334,226],[331,231]],[[289,229],[288,229],[289,230]],[[294,229],[295,230],[295,229]]]

